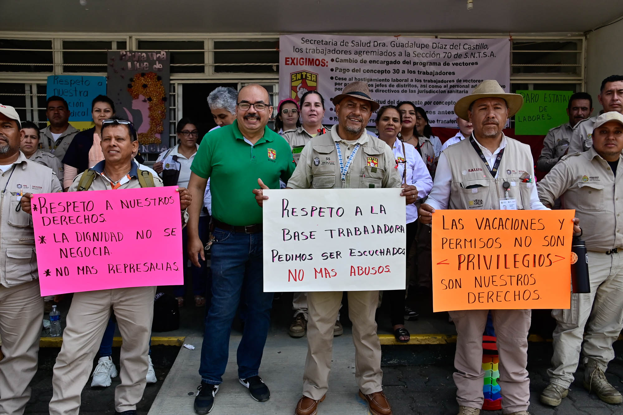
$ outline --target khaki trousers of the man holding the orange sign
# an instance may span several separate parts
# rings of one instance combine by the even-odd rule
[[[460,310],[450,312],[457,328],[457,351],[454,356],[454,383],[457,402],[462,406],[482,408],[482,335],[489,310]],[[528,328],[531,310],[491,310],[500,356],[502,413],[527,411],[530,406],[528,379]]]

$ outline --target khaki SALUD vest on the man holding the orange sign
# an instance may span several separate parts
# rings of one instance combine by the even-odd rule
[[[492,177],[468,139],[446,148],[444,154],[452,171],[449,209],[500,209],[505,181],[511,184],[508,197],[516,200],[517,209],[530,209],[531,186],[535,183],[522,183],[520,179],[524,173],[532,179],[535,176],[530,146],[506,137],[498,178]]]

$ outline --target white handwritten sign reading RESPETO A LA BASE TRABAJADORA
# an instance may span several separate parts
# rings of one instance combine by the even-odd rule
[[[265,190],[264,292],[404,289],[400,192]]]

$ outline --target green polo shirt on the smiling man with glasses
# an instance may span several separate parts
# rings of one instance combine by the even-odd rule
[[[279,179],[288,183],[296,165],[285,139],[264,127],[264,136],[250,145],[238,129],[238,122],[207,133],[194,157],[191,170],[210,179],[212,216],[234,226],[262,223],[253,189],[260,178],[270,189]]]

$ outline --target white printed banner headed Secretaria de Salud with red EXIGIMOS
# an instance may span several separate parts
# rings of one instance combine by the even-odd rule
[[[414,102],[431,126],[456,125],[454,104],[485,79],[510,92],[508,39],[290,34],[279,37],[279,98],[308,90],[325,98],[325,124],[336,124],[335,97],[350,82],[368,83],[381,105]],[[374,122],[374,117],[371,117]]]

